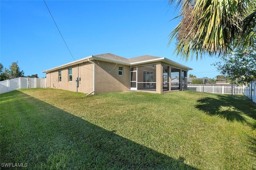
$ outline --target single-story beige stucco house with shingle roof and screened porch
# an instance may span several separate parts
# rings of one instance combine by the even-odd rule
[[[115,91],[170,92],[187,88],[187,66],[164,57],[91,55],[43,71],[46,86],[86,94]],[[172,77],[176,77],[172,86]],[[177,80],[179,81],[177,85]]]

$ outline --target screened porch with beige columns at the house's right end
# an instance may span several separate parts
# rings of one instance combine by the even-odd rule
[[[156,93],[183,90],[186,85],[187,70],[172,67],[168,63],[131,67],[130,90]]]

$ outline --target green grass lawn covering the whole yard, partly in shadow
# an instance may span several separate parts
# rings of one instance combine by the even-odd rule
[[[256,104],[192,91],[22,89],[0,96],[0,154],[0,166],[29,169],[256,169]]]

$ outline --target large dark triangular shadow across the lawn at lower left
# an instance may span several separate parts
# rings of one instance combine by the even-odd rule
[[[23,98],[1,104],[1,163],[27,163],[32,169],[196,169],[184,158],[171,158],[27,94],[15,94]]]

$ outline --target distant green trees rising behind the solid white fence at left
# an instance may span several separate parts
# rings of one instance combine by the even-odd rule
[[[8,68],[4,68],[4,65],[0,63],[0,81],[18,78],[18,77],[32,77],[32,78],[38,78],[38,74],[32,74],[31,76],[25,76],[25,73],[23,70],[20,70],[20,67],[18,66],[18,61],[13,62]]]

